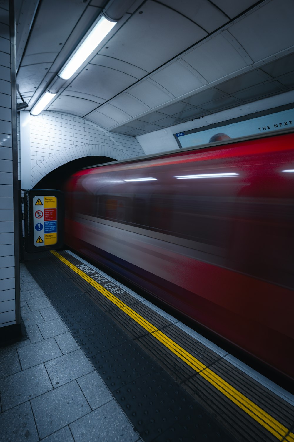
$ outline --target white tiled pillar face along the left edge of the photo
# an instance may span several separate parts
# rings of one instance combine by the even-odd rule
[[[0,327],[15,324],[9,3],[0,3]]]

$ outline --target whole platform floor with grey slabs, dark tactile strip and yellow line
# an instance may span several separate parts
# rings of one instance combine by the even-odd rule
[[[294,441],[290,393],[73,254],[57,255],[21,265],[28,339],[0,349],[1,441]]]

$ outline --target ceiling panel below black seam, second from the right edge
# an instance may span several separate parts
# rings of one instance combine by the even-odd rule
[[[244,58],[218,34],[182,57],[208,83],[223,78],[247,66]]]

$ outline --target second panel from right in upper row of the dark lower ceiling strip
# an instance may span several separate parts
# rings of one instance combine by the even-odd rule
[[[262,72],[261,69],[256,69],[255,71],[247,72],[244,75],[234,77],[231,80],[221,83],[216,86],[216,89],[231,95],[235,92],[249,88],[250,86],[263,83],[265,80],[269,80],[271,78],[272,77],[270,77],[268,74]]]

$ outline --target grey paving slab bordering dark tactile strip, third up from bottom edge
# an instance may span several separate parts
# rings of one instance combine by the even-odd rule
[[[45,367],[54,388],[93,371],[93,365],[82,350],[45,362]]]

